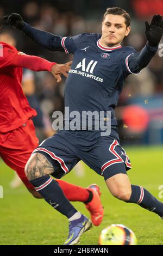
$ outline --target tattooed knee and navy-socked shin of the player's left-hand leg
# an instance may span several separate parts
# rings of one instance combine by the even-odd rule
[[[26,164],[25,172],[36,192],[39,192],[55,210],[67,218],[71,218],[77,213],[77,210],[65,197],[58,182],[50,176],[54,172],[54,168],[44,155],[33,154]]]

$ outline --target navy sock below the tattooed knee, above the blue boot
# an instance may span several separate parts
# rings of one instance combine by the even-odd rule
[[[71,218],[76,214],[77,210],[65,197],[57,181],[52,179],[50,175],[30,180],[30,183],[32,183],[35,190],[38,191],[55,210],[65,215],[67,218]]]

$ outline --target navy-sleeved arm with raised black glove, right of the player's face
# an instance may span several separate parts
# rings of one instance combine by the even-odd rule
[[[128,59],[129,68],[134,73],[149,64],[158,50],[158,45],[163,34],[163,19],[161,15],[154,15],[151,24],[149,25],[146,21],[145,25],[147,44],[139,53],[132,54]]]

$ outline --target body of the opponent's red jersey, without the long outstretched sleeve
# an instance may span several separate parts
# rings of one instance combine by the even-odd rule
[[[0,56],[0,132],[8,132],[20,127],[37,113],[29,106],[23,93],[22,68],[13,64],[18,51],[4,42],[0,44],[3,46]]]

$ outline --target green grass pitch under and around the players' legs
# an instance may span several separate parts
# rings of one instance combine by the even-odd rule
[[[163,185],[163,148],[128,148],[127,153],[133,166],[128,172],[131,183],[142,185],[159,199],[159,186]],[[54,211],[43,199],[33,198],[24,186],[12,190],[9,182],[13,172],[1,160],[0,164],[0,185],[4,189],[4,198],[0,199],[0,245],[62,245],[68,234],[65,216]],[[85,187],[97,183],[102,191],[103,222],[84,233],[80,245],[97,245],[101,230],[114,223],[132,229],[139,245],[163,245],[163,221],[139,205],[112,197],[104,179],[89,167],[85,166],[84,178],[78,178],[72,170],[64,179]],[[163,203],[163,198],[159,200]],[[83,203],[73,205],[89,216]]]

